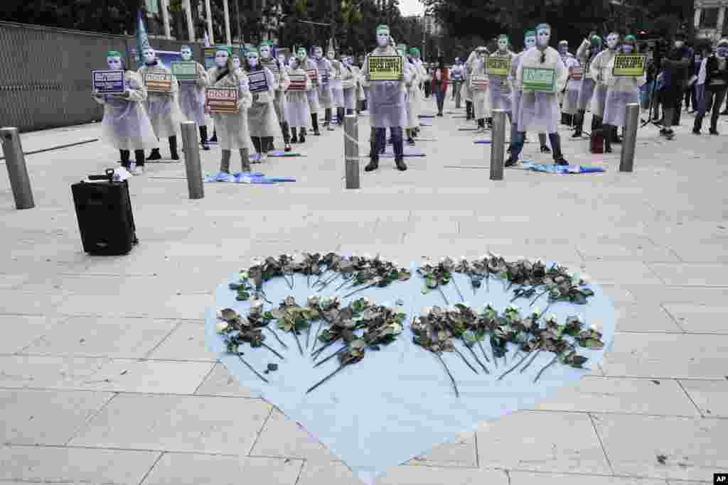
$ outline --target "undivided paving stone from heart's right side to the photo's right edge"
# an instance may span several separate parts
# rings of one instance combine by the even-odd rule
[[[617,333],[602,367],[615,377],[723,379],[726,352],[722,335]]]

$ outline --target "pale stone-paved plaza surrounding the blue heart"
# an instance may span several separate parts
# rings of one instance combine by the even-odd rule
[[[567,135],[569,161],[607,172],[509,169],[494,183],[489,146],[472,144],[483,136],[451,115],[427,121],[427,157],[407,172],[383,159],[360,191],[343,188],[341,131],[254,166],[296,183],[206,184],[198,201],[183,163],[149,164],[131,181],[141,244],[125,257],[82,252],[70,190],[118,153],[96,142],[28,156],[35,209],[15,210],[0,177],[0,481],[360,483],[205,348],[215,286],[250,257],[296,250],[542,257],[581,268],[617,308],[614,352],[579,385],[379,484],[692,485],[728,471],[728,138],[690,135],[687,115],[673,141],[646,127],[635,172],[620,174],[619,145],[591,156]],[[90,124],[23,143],[95,137]],[[524,158],[550,161],[537,152]],[[207,172],[218,157],[202,152]]]

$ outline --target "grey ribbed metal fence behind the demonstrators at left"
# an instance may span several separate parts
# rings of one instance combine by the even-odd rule
[[[202,62],[198,43],[149,39],[160,50],[188,44]],[[100,121],[103,108],[91,97],[91,71],[106,68],[116,50],[135,68],[132,36],[68,31],[0,22],[0,126],[21,132]]]

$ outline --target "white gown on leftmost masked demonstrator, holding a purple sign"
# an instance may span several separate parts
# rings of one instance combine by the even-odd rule
[[[103,105],[101,140],[117,150],[156,148],[157,135],[146,114],[146,87],[134,71],[124,72],[124,83],[130,95],[120,99],[111,95],[94,97]]]

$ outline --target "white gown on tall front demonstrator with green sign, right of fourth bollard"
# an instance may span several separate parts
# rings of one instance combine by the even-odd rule
[[[542,63],[542,52],[529,49],[521,57],[521,63],[516,72],[516,82],[523,87],[523,68],[550,68],[556,70],[556,82],[553,92],[524,91],[521,97],[521,113],[518,116],[519,132],[557,133],[559,122],[559,108],[556,93],[566,87],[568,72],[561,61],[556,49],[547,47],[543,51],[545,60]]]

